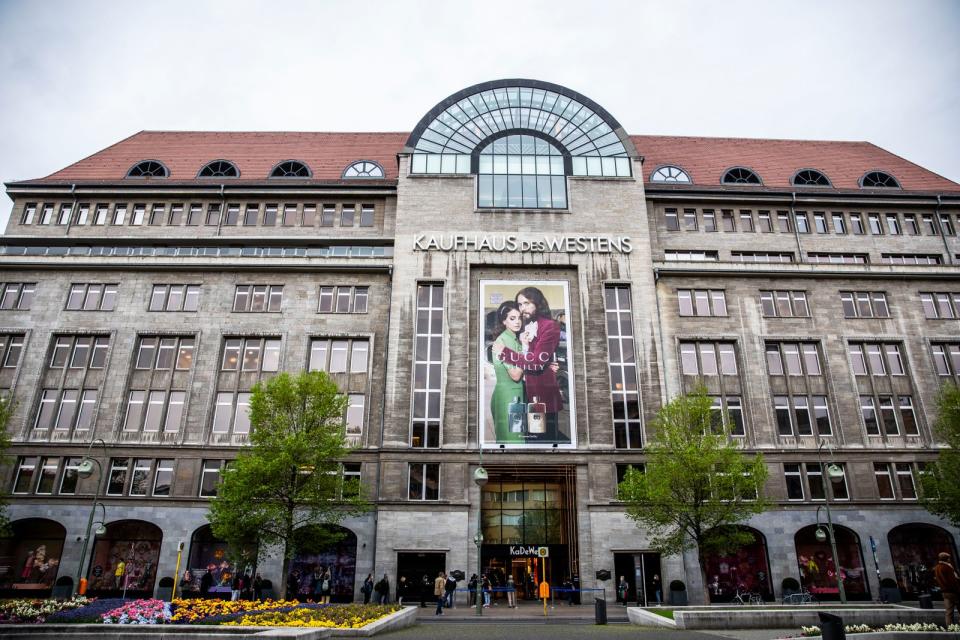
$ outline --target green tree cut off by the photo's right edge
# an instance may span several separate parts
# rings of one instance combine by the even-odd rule
[[[930,513],[960,526],[960,387],[945,384],[937,396],[934,434],[949,445],[920,476],[923,503]]]

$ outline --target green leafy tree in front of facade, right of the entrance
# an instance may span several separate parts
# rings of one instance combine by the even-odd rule
[[[761,454],[744,454],[729,437],[700,387],[657,414],[643,470],[631,468],[619,486],[627,516],[652,535],[664,554],[695,548],[704,597],[706,558],[749,543],[737,523],[768,507],[759,489],[767,478]]]

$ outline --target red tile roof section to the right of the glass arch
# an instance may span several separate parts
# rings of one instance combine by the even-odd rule
[[[869,142],[820,140],[765,140],[684,136],[630,136],[644,157],[643,179],[665,164],[684,169],[696,185],[719,186],[727,169],[752,169],[764,186],[792,188],[800,169],[826,174],[835,189],[859,189],[860,178],[871,170],[889,173],[905,191],[960,191],[947,180]]]

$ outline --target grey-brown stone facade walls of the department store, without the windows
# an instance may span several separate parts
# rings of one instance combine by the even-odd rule
[[[224,371],[225,341],[231,337],[279,338],[281,371],[307,366],[312,338],[363,340],[369,345],[365,371],[335,374],[344,391],[364,398],[362,428],[350,460],[360,464],[373,510],[343,523],[356,537],[355,597],[360,597],[359,585],[368,573],[385,573],[391,584],[396,584],[401,554],[443,554],[448,569],[472,573],[470,568],[478,565],[473,541],[481,503],[480,491],[472,481],[480,452],[478,371],[482,363],[477,345],[482,327],[478,326],[478,309],[480,282],[491,279],[554,280],[568,286],[566,330],[572,347],[568,355],[574,380],[576,446],[483,451],[486,468],[517,482],[541,466],[569,471],[564,546],[570,549],[570,562],[554,568],[558,574],[578,576],[584,588],[602,588],[594,580],[595,572],[613,571],[615,556],[651,551],[647,533],[626,518],[616,500],[617,465],[642,463],[644,454],[640,447],[616,446],[604,313],[605,287],[610,285],[626,286],[632,303],[644,441],[650,437],[651,420],[666,399],[694,383],[682,370],[681,343],[734,345],[735,374],[708,375],[706,381],[711,393],[742,399],[744,448],[766,456],[770,473],[763,490],[776,507],[748,524],[765,539],[775,595],[780,594],[782,579],[798,577],[794,536],[817,522],[817,506],[822,502],[812,501],[809,494],[799,500],[788,495],[784,465],[816,463],[820,440],[812,434],[784,435],[778,430],[773,399],[799,393],[799,382],[768,372],[765,351],[771,343],[814,344],[818,350],[822,373],[803,377],[801,395],[826,398],[830,429],[821,435],[832,449],[831,459],[845,467],[849,492],[849,499],[833,504],[833,520],[859,537],[870,593],[879,593],[872,559],[868,558],[866,541],[871,537],[878,541],[877,561],[883,576],[894,572],[887,544],[894,527],[936,525],[952,536],[956,546],[957,529],[931,517],[909,496],[898,490],[896,499],[882,499],[874,463],[906,463],[914,473],[916,463],[936,455],[938,443],[931,433],[933,399],[944,377],[936,369],[931,349],[937,343],[957,343],[960,320],[925,317],[920,294],[953,293],[960,305],[955,266],[960,236],[956,228],[937,235],[905,231],[860,235],[849,229],[838,234],[835,228],[818,233],[814,226],[814,215],[820,212],[828,219],[841,213],[846,225],[852,214],[863,216],[867,224],[867,216],[874,212],[878,216],[894,213],[900,224],[906,224],[905,216],[912,214],[918,225],[925,216],[934,220],[946,216],[960,225],[956,193],[905,190],[859,194],[842,189],[790,193],[789,189],[723,186],[683,189],[645,183],[641,178],[648,177],[653,167],[634,155],[629,165],[633,177],[567,177],[568,206],[563,209],[491,210],[476,204],[476,176],[418,175],[411,169],[410,149],[394,151],[399,153],[395,181],[305,182],[266,195],[260,184],[221,181],[223,185],[213,185],[188,180],[168,189],[157,182],[123,183],[122,176],[107,184],[81,181],[69,190],[63,184],[43,181],[9,185],[14,209],[4,238],[4,246],[9,248],[0,259],[0,280],[33,283],[35,294],[28,309],[0,310],[0,334],[24,339],[19,360],[0,377],[18,403],[9,427],[14,440],[11,453],[18,463],[4,471],[4,486],[19,489],[11,500],[14,520],[44,518],[65,528],[59,575],[72,576],[80,566],[80,541],[97,480],[81,480],[72,494],[56,489],[42,493],[36,477],[30,487],[18,484],[20,462],[55,459],[60,465],[54,472],[59,486],[65,460],[87,455],[94,439],[105,441],[103,454],[99,445],[91,449],[91,455],[104,466],[104,474],[110,459],[173,459],[169,495],[130,495],[128,487],[122,495],[101,496],[108,523],[140,520],[162,529],[157,576],[172,575],[178,543],[189,547],[194,532],[206,523],[209,498],[200,496],[204,461],[229,459],[246,441],[242,433],[214,432],[217,392],[243,391],[270,374]],[[742,162],[746,164],[746,159]],[[118,206],[125,207],[124,224],[78,221],[81,208],[87,207],[92,218],[101,204],[110,216]],[[177,204],[184,211],[177,224],[132,224],[139,206],[149,218],[154,205],[162,205],[167,216]],[[69,206],[69,224],[39,224],[46,205],[53,207],[53,217]],[[242,219],[249,205],[256,206],[257,225],[226,222],[227,209],[235,206]],[[280,218],[265,228],[263,216],[271,205]],[[374,208],[372,224],[341,224],[344,206],[351,210],[356,206],[359,216],[362,205]],[[207,217],[211,206],[222,207],[222,215]],[[325,206],[332,207],[337,221],[328,227],[320,222]],[[30,207],[34,211],[28,215]],[[204,221],[212,223],[188,225],[187,216],[194,207],[202,212]],[[284,226],[285,210],[298,220],[305,211],[315,210],[317,218],[312,225]],[[735,230],[721,226],[726,211],[734,216]],[[669,228],[670,212],[680,216],[680,229]],[[696,217],[696,229],[687,228],[683,220],[687,212]],[[768,212],[773,230],[744,228],[744,212],[749,213],[752,225],[759,224],[761,212]],[[788,229],[777,226],[780,213],[787,216]],[[715,216],[718,231],[708,230],[710,214]],[[809,232],[797,228],[798,214],[807,216]],[[882,223],[887,224],[885,218]],[[618,236],[630,239],[631,250],[424,250],[420,244],[424,235],[456,234]],[[151,249],[148,255],[126,249],[111,253],[99,247],[88,255],[77,255],[73,250],[93,242]],[[164,253],[157,249],[169,246],[180,250]],[[351,246],[362,249],[349,249]],[[244,255],[246,247],[263,249]],[[311,247],[324,249],[310,254]],[[675,261],[667,255],[672,251],[715,251],[717,259]],[[790,254],[792,261],[744,263],[737,261],[734,252]],[[811,261],[811,253],[867,254],[869,264],[817,264]],[[884,264],[885,254],[935,254],[941,262]],[[68,292],[78,283],[117,284],[112,309],[67,310]],[[416,293],[423,283],[442,284],[444,296],[442,429],[435,447],[414,446],[411,427]],[[151,293],[158,284],[199,285],[198,309],[149,311]],[[280,311],[233,311],[238,285],[282,285]],[[366,311],[318,312],[321,287],[367,287]],[[722,291],[726,309],[716,317],[681,315],[678,290]],[[761,292],[774,290],[804,292],[809,316],[765,316]],[[884,293],[888,317],[843,318],[841,293],[858,291]],[[105,365],[82,368],[82,373],[68,366],[51,366],[58,336],[109,338]],[[135,363],[143,336],[195,340],[189,367],[156,373],[147,383],[148,390],[175,388],[185,393],[182,421],[160,432],[127,428],[130,391],[142,386],[143,375]],[[855,375],[849,348],[861,343],[899,345],[904,375],[877,379]],[[166,386],[149,386],[160,378]],[[96,390],[90,427],[36,428],[41,422],[45,389]],[[916,433],[908,434],[905,425],[897,434],[868,433],[859,400],[862,395],[912,398]],[[408,482],[415,464],[439,465],[436,500],[412,499]],[[260,571],[278,580],[279,559],[262,554]],[[661,558],[660,571],[664,587],[672,580],[683,580],[692,598],[702,593],[695,555]],[[554,580],[560,578],[555,575]],[[613,585],[606,586],[607,597],[612,599]]]

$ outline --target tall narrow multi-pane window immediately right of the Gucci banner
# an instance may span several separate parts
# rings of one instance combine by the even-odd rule
[[[618,449],[639,449],[643,446],[643,437],[630,287],[604,286],[603,301],[614,445]]]

